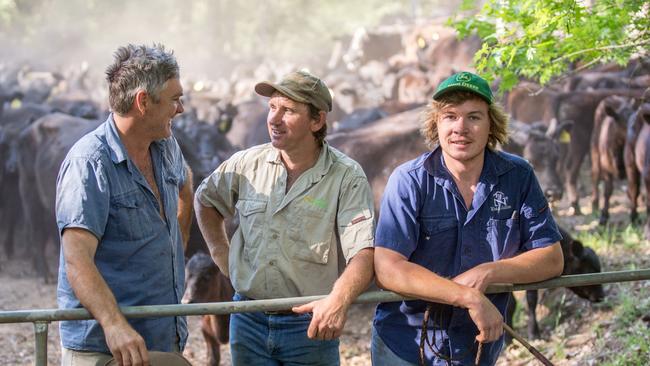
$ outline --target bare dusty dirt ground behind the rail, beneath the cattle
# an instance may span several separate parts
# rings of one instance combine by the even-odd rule
[[[581,200],[583,212],[589,214],[587,198]],[[627,199],[621,189],[612,202],[612,221],[626,222]],[[594,216],[570,217],[568,210],[560,205],[555,208],[558,221],[572,231],[591,230],[597,225]],[[601,259],[603,257],[602,253]],[[650,249],[645,247],[635,259],[629,253],[611,253],[604,260],[604,270],[625,268],[636,261],[638,268],[650,267]],[[608,296],[616,292],[617,285],[607,285]],[[639,283],[639,286],[645,284]],[[522,294],[517,294],[520,299]],[[580,299],[568,290],[556,289],[546,292],[538,307],[538,319],[542,327],[542,340],[532,344],[550,357],[556,365],[596,365],[607,349],[596,349],[598,337],[613,337],[611,332],[596,332],[599,327],[611,324],[611,305],[594,305]],[[522,305],[523,306],[523,305]],[[45,285],[31,270],[26,260],[8,262],[0,257],[0,311],[56,308],[56,285]],[[553,310],[555,309],[555,310]],[[561,309],[561,310],[557,310]],[[370,325],[374,305],[355,305],[341,339],[342,365],[370,365]],[[580,316],[573,316],[579,314]],[[551,316],[552,315],[552,316]],[[516,330],[525,335],[523,322]],[[553,327],[557,323],[557,326]],[[206,361],[205,346],[200,334],[199,317],[189,317],[190,339],[185,356],[192,364],[203,365]],[[34,335],[31,323],[0,324],[0,365],[31,365],[34,362]],[[558,349],[560,347],[561,349]],[[50,365],[60,362],[58,323],[52,323],[48,337],[48,360]],[[523,347],[512,345],[504,350],[498,365],[534,364],[534,359]],[[222,347],[222,365],[230,365],[228,346]]]

